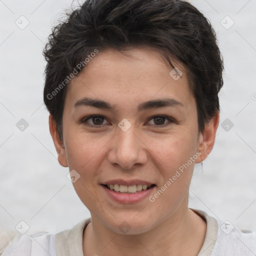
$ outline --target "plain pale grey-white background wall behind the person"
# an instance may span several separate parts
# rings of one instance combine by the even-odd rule
[[[195,166],[189,206],[256,231],[256,0],[191,0],[217,32],[225,74],[215,146]],[[56,160],[43,105],[41,54],[51,24],[71,0],[0,0],[0,226],[71,228],[89,211]],[[74,2],[75,5],[75,2]],[[20,29],[15,21],[24,25]],[[229,29],[232,20],[234,24]],[[224,26],[226,26],[226,28]],[[21,24],[20,24],[21,25]],[[24,118],[29,126],[20,131]],[[234,126],[226,131],[228,118]]]

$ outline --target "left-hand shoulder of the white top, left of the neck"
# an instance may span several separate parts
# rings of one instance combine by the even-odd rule
[[[39,232],[33,235],[0,230],[0,256],[83,256],[82,235],[90,218],[57,234]]]

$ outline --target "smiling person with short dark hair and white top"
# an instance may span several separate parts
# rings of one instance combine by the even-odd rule
[[[254,232],[188,208],[223,84],[215,33],[194,6],[87,0],[53,29],[44,56],[58,161],[91,218],[16,236],[2,256],[256,253]]]

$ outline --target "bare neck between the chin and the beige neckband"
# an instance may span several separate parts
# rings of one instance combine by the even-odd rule
[[[150,220],[149,220],[150,221]],[[145,233],[116,233],[94,215],[84,229],[83,252],[87,255],[197,255],[205,238],[206,223],[187,206]]]

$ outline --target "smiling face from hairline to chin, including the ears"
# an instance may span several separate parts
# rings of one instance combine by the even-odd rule
[[[64,147],[51,126],[60,164],[79,177],[77,195],[119,233],[122,225],[146,232],[187,210],[193,166],[210,150],[186,71],[173,63],[179,79],[152,49],[99,51],[68,85]]]

